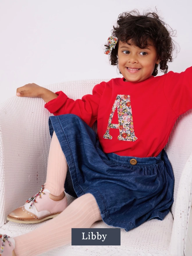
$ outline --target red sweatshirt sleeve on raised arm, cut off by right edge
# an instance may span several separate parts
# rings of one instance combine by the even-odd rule
[[[181,73],[170,71],[163,76],[163,92],[176,116],[192,109],[192,66]]]

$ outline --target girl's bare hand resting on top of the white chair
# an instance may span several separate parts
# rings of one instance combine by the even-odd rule
[[[19,97],[40,97],[43,88],[44,87],[41,87],[35,83],[28,83],[22,87],[17,88],[16,95]],[[20,95],[18,93],[20,93]]]

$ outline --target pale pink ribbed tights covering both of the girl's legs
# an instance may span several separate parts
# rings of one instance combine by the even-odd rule
[[[54,132],[44,184],[51,194],[60,195],[63,192],[67,168],[65,155]],[[14,237],[14,252],[16,256],[33,256],[63,246],[71,242],[71,228],[89,228],[98,220],[102,218],[95,197],[87,193],[75,199],[56,218],[42,223],[40,227],[27,234]]]

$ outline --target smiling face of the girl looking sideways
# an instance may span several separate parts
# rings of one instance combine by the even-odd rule
[[[126,82],[138,83],[151,76],[155,64],[159,64],[160,59],[159,56],[157,56],[157,51],[154,46],[149,45],[147,49],[141,49],[132,45],[130,40],[128,43],[131,43],[131,45],[128,45],[126,42],[122,43],[122,41],[119,40],[118,66],[121,74],[126,79]],[[149,41],[149,43],[152,44],[151,41]],[[131,73],[127,67],[141,69]]]

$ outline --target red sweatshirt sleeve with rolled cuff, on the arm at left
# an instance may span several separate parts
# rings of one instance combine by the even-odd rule
[[[97,120],[99,102],[103,94],[106,82],[96,84],[92,94],[87,94],[82,99],[70,99],[63,91],[58,91],[58,97],[45,104],[45,108],[54,115],[75,114],[78,115],[90,127]]]

